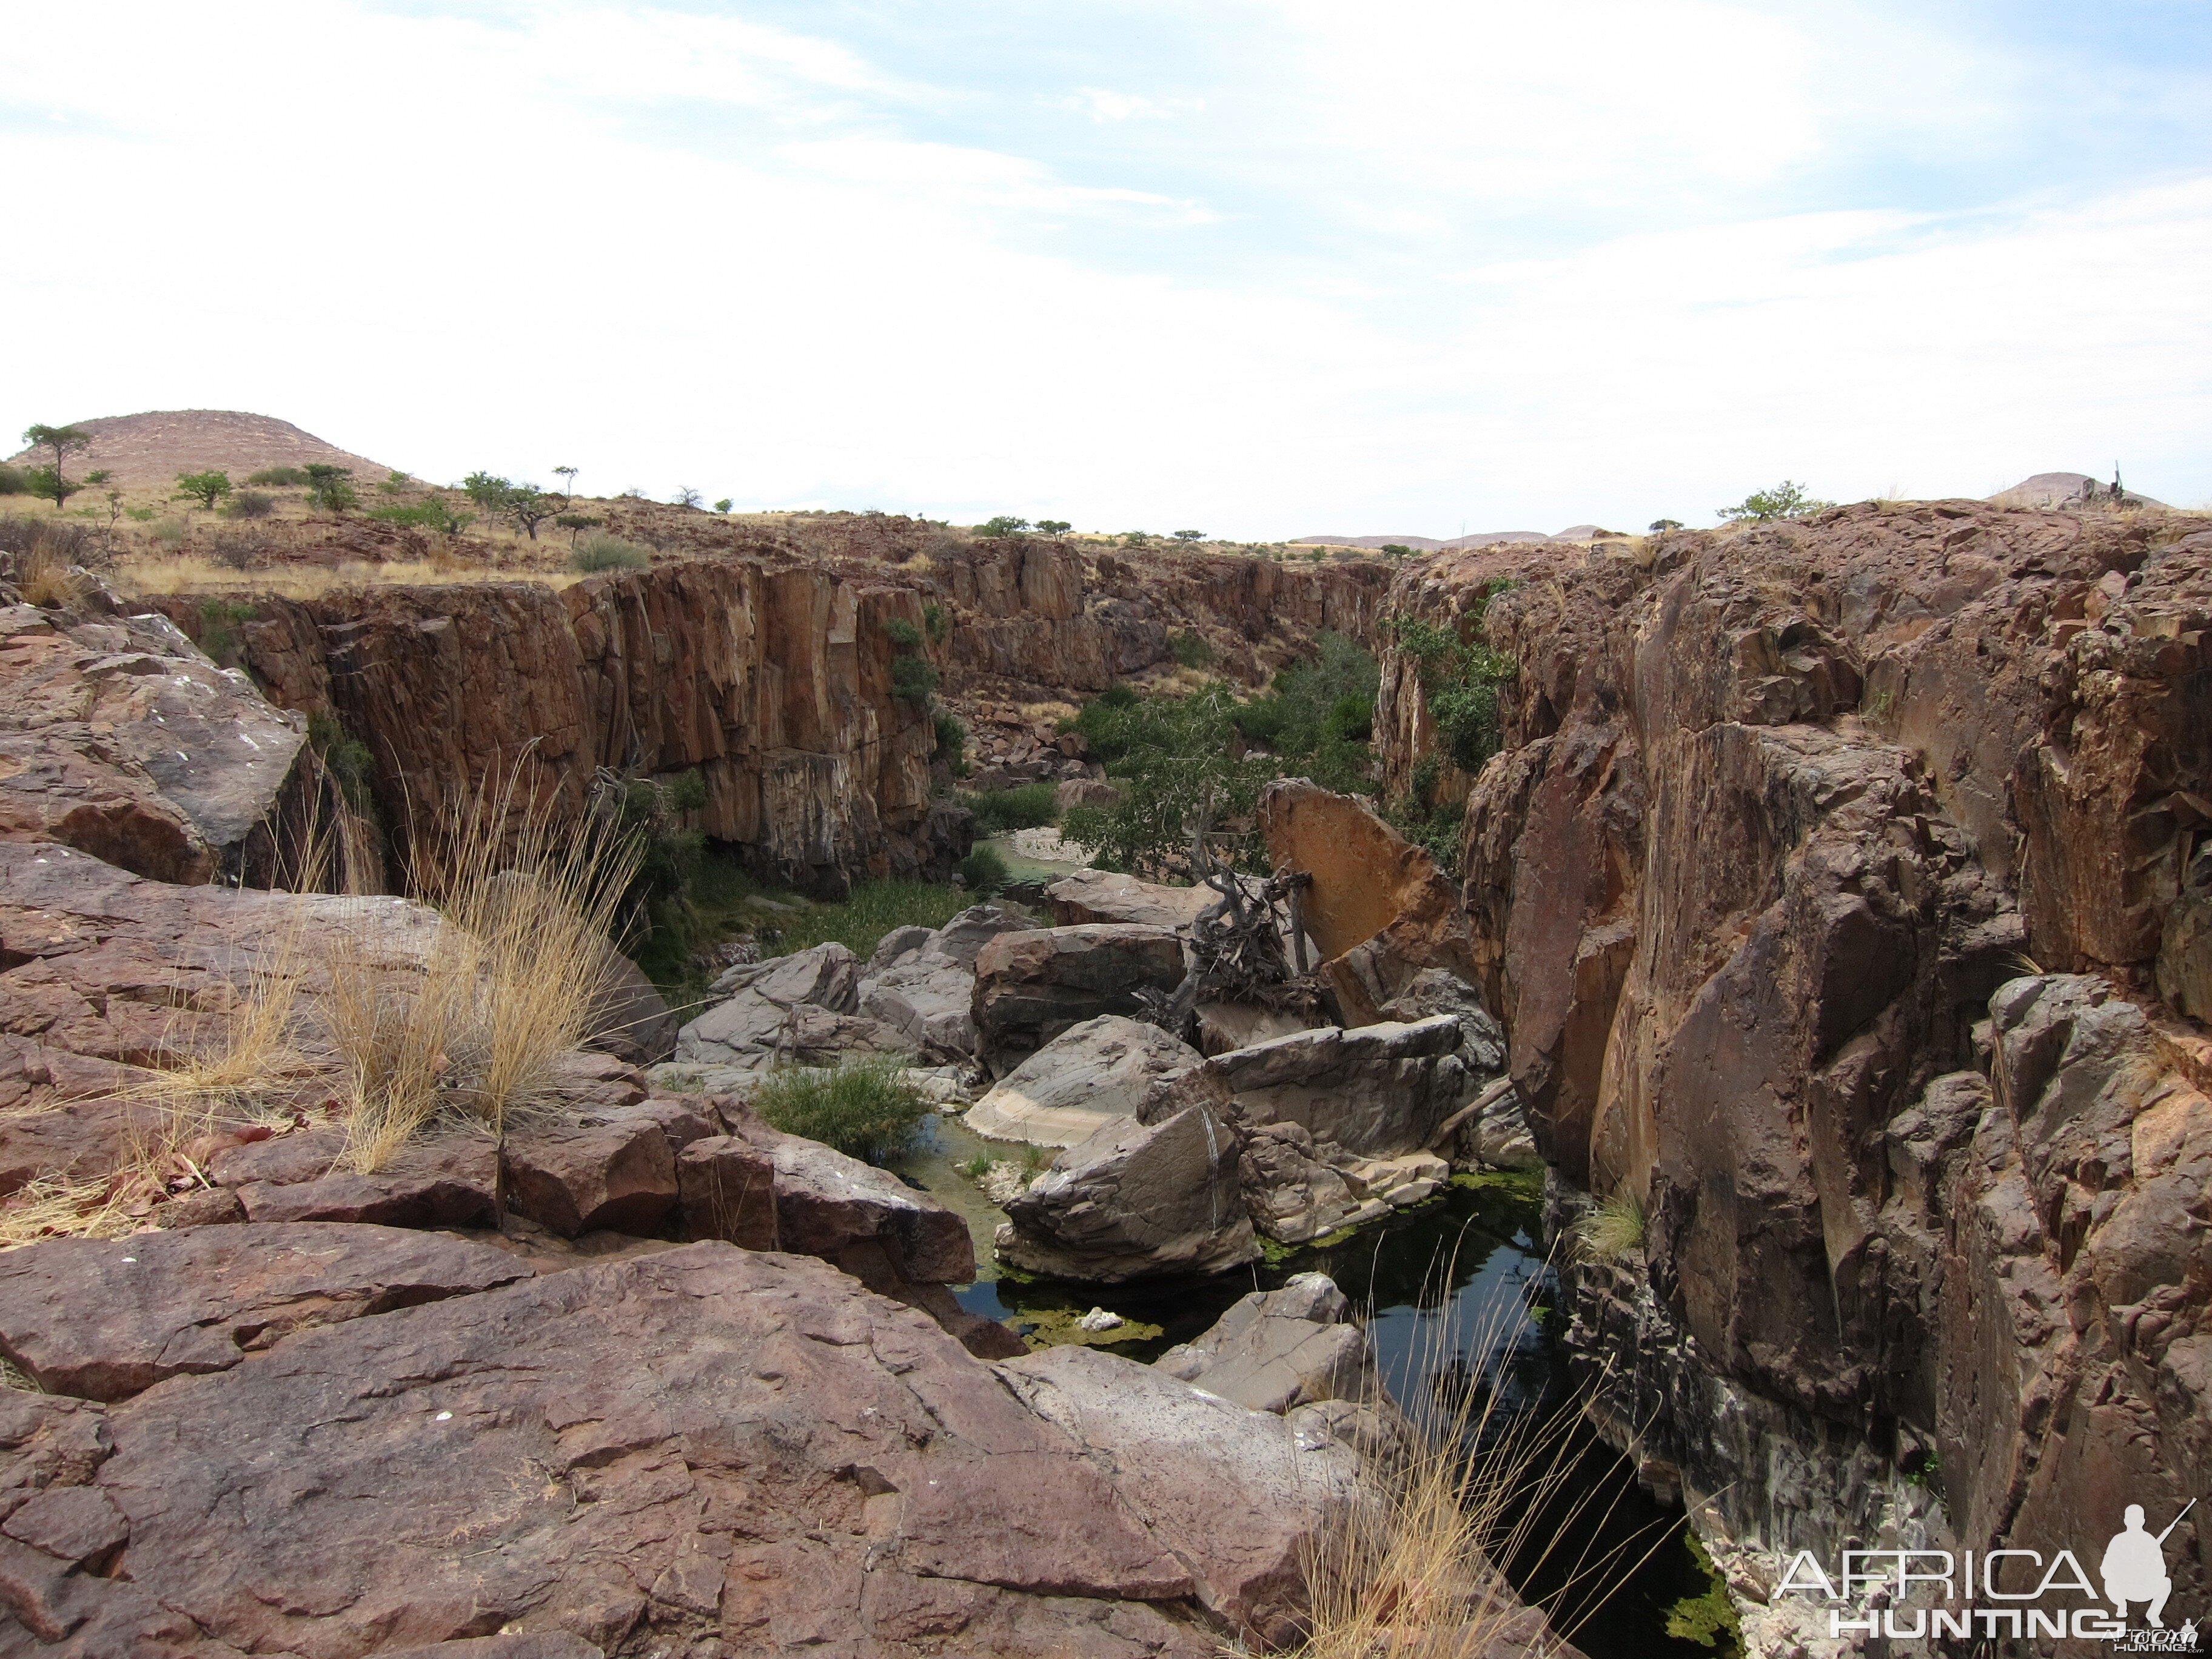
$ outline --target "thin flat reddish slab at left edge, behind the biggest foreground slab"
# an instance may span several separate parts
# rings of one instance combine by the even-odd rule
[[[124,1400],[310,1325],[526,1276],[465,1239],[334,1221],[46,1239],[0,1254],[0,1354],[49,1394]]]

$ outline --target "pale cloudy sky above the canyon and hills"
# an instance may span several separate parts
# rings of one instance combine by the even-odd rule
[[[0,168],[0,431],[1237,540],[2212,504],[2208,0],[73,0]]]

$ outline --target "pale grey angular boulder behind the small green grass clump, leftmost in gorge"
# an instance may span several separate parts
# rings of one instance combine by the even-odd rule
[[[677,1060],[739,1071],[836,1064],[845,1053],[914,1053],[916,1044],[860,1006],[860,958],[830,940],[768,962],[732,967],[712,987],[721,1002],[677,1033]]]

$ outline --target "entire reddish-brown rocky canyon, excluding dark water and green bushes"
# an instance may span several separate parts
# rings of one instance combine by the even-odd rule
[[[2090,1562],[2212,1495],[2212,520],[902,535],[243,613],[0,586],[0,1199],[113,1221],[0,1250],[0,1652],[1296,1652],[1418,1402],[1334,1283],[1254,1263],[1506,1168],[1577,1411],[1743,1652],[1851,1650],[1794,1555]],[[1062,872],[717,962],[697,1009],[608,953],[626,1013],[529,1113],[387,1159],[327,1044],[217,1077],[272,980],[303,1026],[422,1004],[456,922],[407,854],[484,779],[582,834],[697,774],[757,880],[945,885],[978,825],[916,664],[993,783],[1110,796],[1064,714],[1201,657],[1252,695],[1321,635],[1380,661],[1374,772],[1272,781],[1265,867]],[[283,891],[330,814],[374,832]],[[989,1214],[763,1117],[863,1060],[1029,1148]],[[219,1110],[164,1139],[186,1073]],[[1137,1363],[980,1316],[978,1259],[1254,1290]],[[2190,1524],[2163,1559],[2201,1621]],[[1486,1559],[1447,1601],[1453,1652],[1575,1652]]]

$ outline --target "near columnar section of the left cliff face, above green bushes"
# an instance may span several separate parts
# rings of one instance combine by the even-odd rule
[[[801,887],[949,865],[929,818],[929,710],[891,695],[905,588],[823,568],[686,562],[540,584],[265,599],[270,699],[367,743],[385,821],[513,772],[557,818],[599,768],[708,785],[697,825]]]

